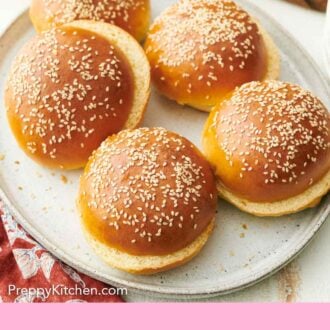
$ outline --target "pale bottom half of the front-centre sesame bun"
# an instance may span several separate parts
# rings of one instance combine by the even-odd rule
[[[134,256],[96,240],[85,228],[88,243],[107,264],[119,270],[140,275],[151,275],[181,266],[195,257],[206,244],[214,228],[215,219],[190,245],[165,256]]]

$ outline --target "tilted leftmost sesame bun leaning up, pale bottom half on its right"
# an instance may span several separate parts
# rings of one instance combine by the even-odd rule
[[[5,102],[28,156],[76,169],[109,135],[137,127],[149,96],[150,67],[135,39],[110,24],[76,21],[21,50]]]

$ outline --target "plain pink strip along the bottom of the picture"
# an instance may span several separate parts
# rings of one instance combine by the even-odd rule
[[[329,330],[330,304],[1,305],[3,329]],[[7,326],[8,327],[7,327]]]

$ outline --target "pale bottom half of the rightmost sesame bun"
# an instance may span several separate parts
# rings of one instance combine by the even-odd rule
[[[330,171],[319,182],[313,184],[300,195],[273,203],[255,203],[238,197],[227,190],[219,181],[217,189],[221,198],[244,212],[258,217],[280,217],[318,205],[322,197],[330,190]]]

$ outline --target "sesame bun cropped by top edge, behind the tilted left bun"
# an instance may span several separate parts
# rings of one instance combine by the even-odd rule
[[[142,41],[150,23],[149,0],[32,0],[31,21],[44,32],[76,20],[119,26]]]

